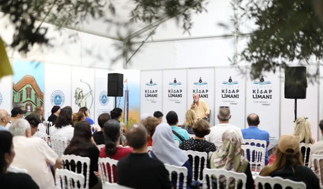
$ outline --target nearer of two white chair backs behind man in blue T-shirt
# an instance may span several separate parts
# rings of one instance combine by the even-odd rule
[[[247,159],[247,150],[249,150],[250,166],[255,167],[255,171],[252,171],[252,173],[254,175],[259,174],[260,170],[264,167],[264,158],[266,155],[266,149],[262,147],[256,147],[256,146],[250,146],[250,145],[241,145],[241,149],[243,150],[244,157],[246,159]],[[254,157],[252,157],[253,152],[254,152]]]

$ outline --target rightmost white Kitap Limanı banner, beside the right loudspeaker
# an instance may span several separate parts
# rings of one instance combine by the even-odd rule
[[[247,115],[259,115],[259,129],[269,133],[271,139],[279,139],[279,72],[265,73],[260,79],[250,80],[247,70]]]

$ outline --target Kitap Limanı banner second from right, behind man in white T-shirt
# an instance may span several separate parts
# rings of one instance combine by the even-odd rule
[[[239,69],[216,68],[215,115],[218,115],[220,106],[229,106],[232,116],[230,123],[244,129],[245,77],[241,73],[245,73],[245,69]],[[216,124],[218,123],[217,119]]]

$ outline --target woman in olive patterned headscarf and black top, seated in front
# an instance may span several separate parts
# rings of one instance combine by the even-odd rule
[[[240,140],[240,135],[236,131],[226,131],[222,136],[222,148],[212,154],[210,165],[212,169],[226,169],[245,173],[247,176],[246,188],[254,188],[250,164],[248,160],[241,155]],[[221,185],[228,184],[228,181],[226,181],[226,177],[224,176],[220,176],[220,178],[217,179],[220,179]],[[223,187],[225,188],[225,186]],[[229,188],[235,188],[235,182],[232,178],[229,179]],[[242,188],[242,182],[238,183],[238,188]]]

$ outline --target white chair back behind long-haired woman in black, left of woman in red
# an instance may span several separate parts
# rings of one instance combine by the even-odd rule
[[[77,162],[80,162],[82,164],[81,166],[81,173],[84,175],[84,164],[86,164],[86,185],[85,188],[89,188],[89,179],[90,179],[90,162],[91,159],[88,157],[81,157],[81,156],[76,156],[76,155],[62,155],[61,156],[62,159],[62,165],[64,166],[64,168],[67,167],[66,162],[68,161],[68,165],[69,165],[69,170],[71,170],[71,162],[72,160],[74,160],[75,162],[75,171],[76,173],[78,172],[78,168],[77,168]],[[80,182],[82,184],[84,184],[84,182]],[[81,187],[82,187],[81,184]]]

